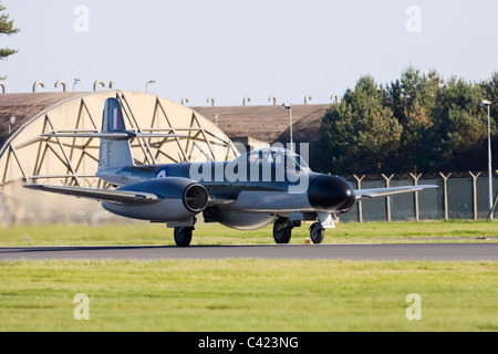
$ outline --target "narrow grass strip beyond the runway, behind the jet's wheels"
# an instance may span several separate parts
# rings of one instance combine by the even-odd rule
[[[491,221],[424,221],[338,223],[326,230],[325,243],[359,242],[476,242],[477,237],[498,237]],[[309,225],[294,228],[293,243],[309,237]],[[491,239],[495,241],[496,239]],[[478,241],[486,242],[486,241]],[[198,223],[193,244],[273,243],[271,226],[238,231],[220,225]],[[92,226],[17,226],[0,229],[0,246],[174,244],[173,230],[148,222]]]

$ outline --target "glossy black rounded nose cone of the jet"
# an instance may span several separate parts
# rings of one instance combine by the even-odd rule
[[[310,179],[308,199],[318,210],[350,210],[356,200],[353,187],[347,180],[328,175],[318,175]]]

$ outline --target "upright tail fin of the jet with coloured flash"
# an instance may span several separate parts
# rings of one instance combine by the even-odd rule
[[[116,98],[105,101],[102,133],[126,132],[123,119],[123,110]],[[98,170],[112,167],[133,166],[129,137],[102,137]]]

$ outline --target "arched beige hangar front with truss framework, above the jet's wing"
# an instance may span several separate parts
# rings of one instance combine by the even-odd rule
[[[136,164],[230,160],[238,156],[215,124],[173,101],[138,92],[0,95],[0,186],[20,179],[97,187],[100,140],[40,135],[55,131],[100,131],[105,100],[117,98],[128,129],[186,137],[135,138]],[[11,119],[15,117],[15,119]],[[12,131],[12,133],[10,133]],[[102,186],[101,186],[102,187]]]

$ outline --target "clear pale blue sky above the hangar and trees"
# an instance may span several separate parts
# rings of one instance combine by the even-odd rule
[[[8,93],[92,91],[96,80],[190,106],[332,102],[362,75],[408,65],[445,79],[498,71],[496,0],[1,0],[21,32],[0,62]]]

